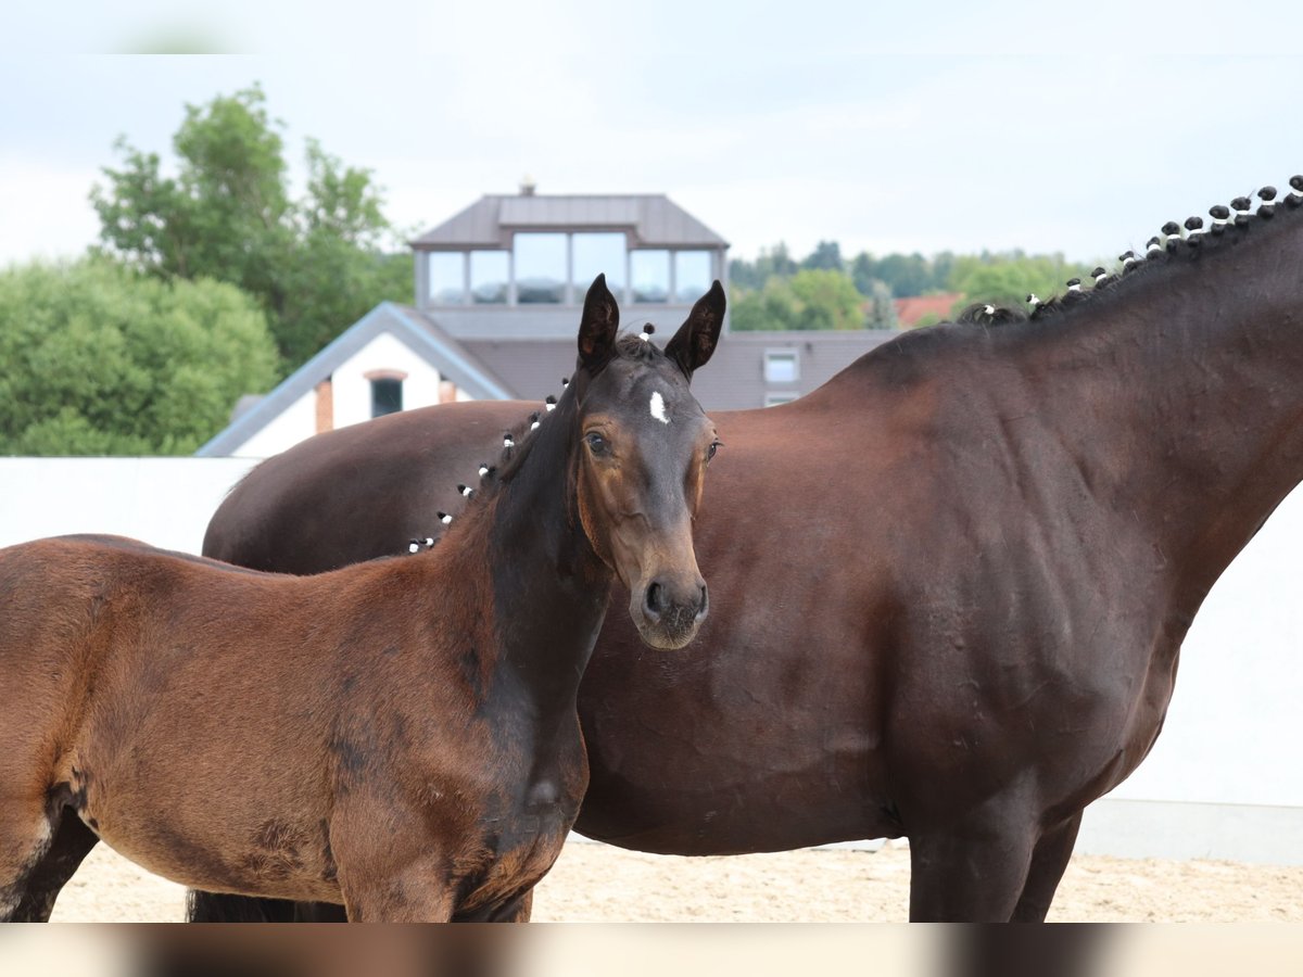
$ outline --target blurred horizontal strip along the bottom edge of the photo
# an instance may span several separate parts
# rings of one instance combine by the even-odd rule
[[[35,977],[1255,977],[1299,973],[1278,926],[12,927],[0,973]]]

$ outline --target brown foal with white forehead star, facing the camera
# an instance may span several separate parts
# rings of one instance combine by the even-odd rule
[[[708,612],[714,429],[598,276],[575,380],[508,432],[438,546],[301,577],[116,537],[0,551],[0,918],[47,920],[103,839],[208,891],[349,920],[525,920],[588,780],[576,689],[611,582],[675,650]],[[435,513],[430,513],[431,518]]]

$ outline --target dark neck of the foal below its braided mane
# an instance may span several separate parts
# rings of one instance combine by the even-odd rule
[[[567,396],[529,435],[534,443],[509,479],[468,513],[476,525],[444,539],[466,551],[461,564],[487,573],[495,685],[541,722],[573,719],[612,581],[579,520],[573,427]]]

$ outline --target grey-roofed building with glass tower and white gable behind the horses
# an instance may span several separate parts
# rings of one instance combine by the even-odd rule
[[[246,399],[201,456],[266,457],[344,425],[450,400],[541,400],[575,369],[598,274],[625,327],[662,341],[715,279],[728,242],[663,194],[486,195],[410,242],[416,304],[382,302],[280,386]],[[728,322],[724,322],[728,330]],[[730,332],[694,379],[708,410],[808,393],[893,333]]]

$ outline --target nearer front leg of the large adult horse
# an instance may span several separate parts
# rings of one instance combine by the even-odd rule
[[[909,834],[911,922],[1005,922],[1027,882],[1036,830],[959,825]]]

